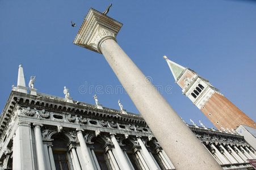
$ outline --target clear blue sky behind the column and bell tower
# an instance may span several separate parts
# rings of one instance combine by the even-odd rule
[[[102,54],[72,43],[89,8],[103,12],[110,3],[108,16],[124,24],[117,42],[154,85],[163,87],[162,95],[184,121],[213,127],[182,95],[163,55],[208,79],[256,121],[256,2],[249,0],[2,0],[1,111],[22,64],[27,84],[36,76],[38,92],[64,97],[66,86],[74,100],[94,104],[92,96],[98,94],[103,107],[119,109],[120,99],[128,112],[139,113],[125,92],[115,92],[119,80]]]

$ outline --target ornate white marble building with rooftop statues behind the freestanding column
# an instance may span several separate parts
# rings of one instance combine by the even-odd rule
[[[27,94],[20,65],[0,117],[0,169],[175,169],[140,114],[102,107],[96,96],[96,105],[75,101],[67,88],[65,98],[40,94],[32,84]],[[200,124],[188,126],[221,167],[253,169],[244,137]]]

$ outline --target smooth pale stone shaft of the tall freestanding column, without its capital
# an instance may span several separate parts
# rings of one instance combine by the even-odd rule
[[[175,168],[222,169],[115,40],[99,48]]]

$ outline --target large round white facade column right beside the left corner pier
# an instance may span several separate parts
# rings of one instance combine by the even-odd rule
[[[37,155],[37,168],[46,169],[46,163],[44,159],[44,148],[43,148],[43,141],[41,135],[41,124],[33,124],[34,133],[35,133],[35,143],[36,143],[36,155]]]

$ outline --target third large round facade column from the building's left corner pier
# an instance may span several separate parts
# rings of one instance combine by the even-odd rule
[[[116,158],[116,161],[120,167],[120,169],[129,169],[129,163],[127,162],[127,159],[124,156],[123,150],[121,150],[121,147],[119,146],[119,143],[116,140],[115,134],[110,135],[111,141],[114,144],[115,148],[112,148],[112,152]]]

